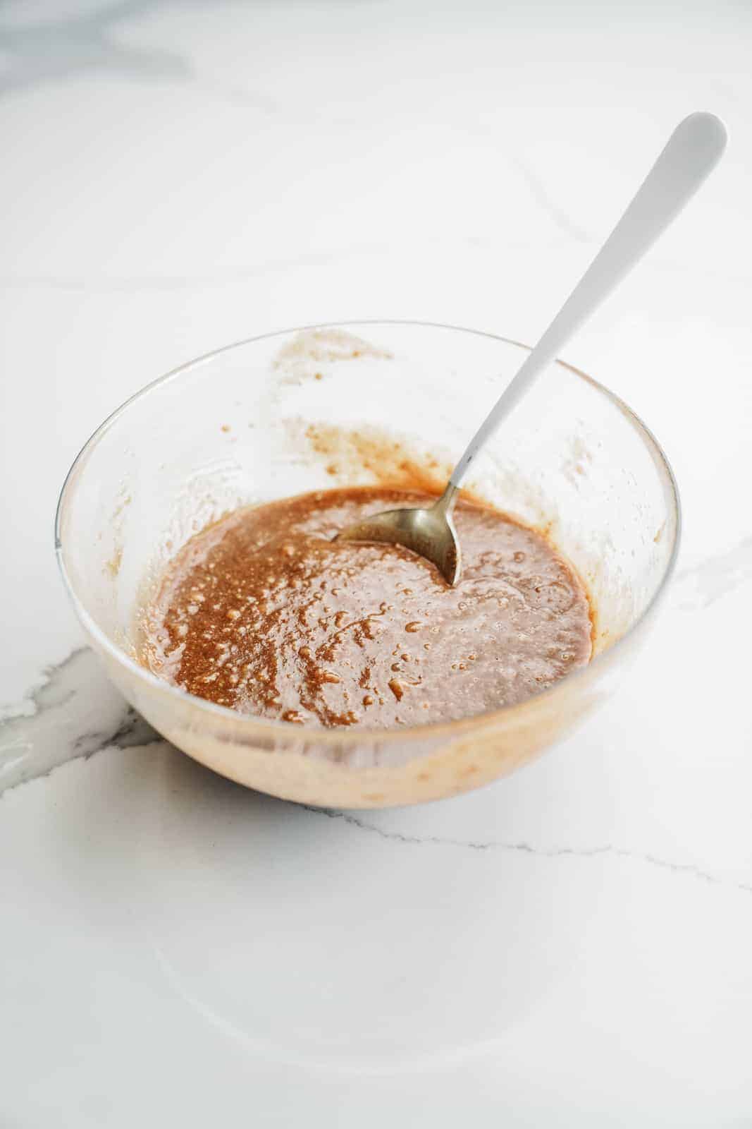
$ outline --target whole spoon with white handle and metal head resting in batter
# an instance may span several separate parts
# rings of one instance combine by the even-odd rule
[[[725,148],[726,128],[714,114],[690,114],[679,123],[613,231],[468,444],[441,498],[427,508],[390,509],[363,518],[335,540],[404,545],[433,561],[452,587],[459,581],[462,553],[452,510],[470,464],[536,377],[691,200]]]

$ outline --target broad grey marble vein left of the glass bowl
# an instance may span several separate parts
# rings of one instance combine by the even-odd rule
[[[0,720],[0,795],[78,756],[161,739],[82,647],[45,671],[26,708]]]

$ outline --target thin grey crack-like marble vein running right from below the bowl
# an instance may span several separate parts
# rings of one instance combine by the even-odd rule
[[[511,852],[522,852],[524,855],[534,855],[537,858],[563,858],[566,856],[572,856],[573,858],[594,858],[596,856],[610,856],[612,858],[626,858],[636,859],[640,863],[647,863],[651,866],[660,867],[664,870],[670,870],[673,874],[685,874],[692,878],[697,878],[700,882],[707,882],[710,885],[717,886],[731,886],[735,890],[743,890],[745,893],[752,894],[752,884],[745,882],[731,882],[725,878],[720,878],[715,874],[710,874],[708,870],[702,870],[700,867],[695,866],[691,863],[672,863],[669,859],[657,858],[657,856],[649,854],[648,851],[634,851],[627,850],[625,847],[613,847],[610,843],[605,843],[600,847],[533,847],[532,843],[525,842],[503,842],[499,840],[472,840],[472,839],[450,839],[443,835],[409,835],[401,831],[386,831],[383,828],[377,826],[374,823],[369,823],[361,816],[353,815],[352,812],[339,812],[329,807],[313,807],[310,804],[301,804],[307,812],[311,812],[313,815],[322,815],[329,820],[342,820],[344,823],[353,828],[359,828],[361,831],[366,831],[370,834],[378,835],[380,839],[389,839],[395,842],[407,843],[409,846],[430,846],[430,847],[461,847],[466,850],[472,851],[511,851]]]

